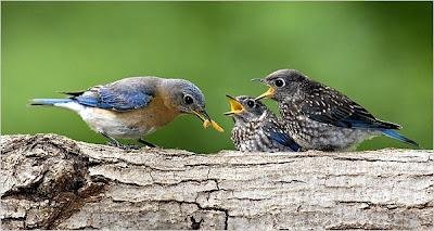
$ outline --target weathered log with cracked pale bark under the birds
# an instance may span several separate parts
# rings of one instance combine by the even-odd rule
[[[3,229],[432,229],[433,152],[122,151],[1,137]]]

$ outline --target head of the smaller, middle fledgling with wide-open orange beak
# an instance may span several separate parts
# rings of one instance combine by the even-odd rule
[[[241,95],[233,98],[228,94],[226,97],[229,101],[230,112],[225,113],[225,115],[232,116],[235,121],[248,123],[259,119],[264,112],[267,111],[266,105],[252,97]]]

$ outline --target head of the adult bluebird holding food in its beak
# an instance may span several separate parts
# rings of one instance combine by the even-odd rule
[[[165,85],[164,91],[169,95],[171,107],[178,113],[195,115],[204,123],[204,127],[210,123],[216,130],[222,132],[206,113],[205,97],[194,84],[184,79],[167,79]]]

